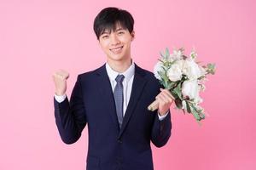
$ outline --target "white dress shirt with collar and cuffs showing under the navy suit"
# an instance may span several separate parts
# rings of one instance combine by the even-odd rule
[[[109,77],[109,81],[111,83],[111,87],[112,87],[112,91],[114,90],[117,82],[115,81],[115,78],[119,75],[122,74],[125,76],[123,83],[123,90],[124,90],[124,111],[123,114],[125,116],[125,111],[127,109],[130,97],[131,97],[131,88],[132,88],[132,82],[134,79],[134,72],[135,72],[135,65],[134,62],[132,61],[131,66],[122,73],[119,73],[117,71],[113,71],[113,69],[110,67],[110,65],[108,65],[108,62],[106,63],[106,70],[108,73],[108,77]],[[61,95],[58,96],[55,94],[55,99],[57,100],[57,102],[61,103],[62,101],[64,101],[66,99],[67,95]],[[168,112],[166,113],[166,115],[164,116],[160,116],[160,114],[158,114],[160,121],[163,120],[166,116],[167,116]]]

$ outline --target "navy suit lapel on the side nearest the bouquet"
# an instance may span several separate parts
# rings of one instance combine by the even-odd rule
[[[134,109],[137,105],[137,101],[140,98],[141,94],[143,94],[143,88],[146,84],[146,79],[144,78],[144,71],[135,65],[135,74],[132,82],[131,88],[131,97],[129,103],[127,105],[127,109],[125,111],[125,116],[123,119],[122,127],[119,131],[119,137],[124,133],[125,127],[127,126],[129,120],[131,119],[131,115],[134,113]]]

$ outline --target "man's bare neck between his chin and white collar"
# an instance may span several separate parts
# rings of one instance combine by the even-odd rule
[[[132,60],[131,58],[126,59],[125,61],[113,61],[108,59],[107,62],[108,65],[113,69],[113,71],[122,73],[125,72],[131,66]]]

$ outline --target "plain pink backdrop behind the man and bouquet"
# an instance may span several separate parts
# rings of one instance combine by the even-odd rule
[[[91,2],[0,1],[0,169],[84,169],[87,127],[77,143],[61,142],[51,74],[70,72],[69,96],[79,73],[105,62],[92,24],[108,6],[135,18],[137,65],[152,71],[166,47],[195,47],[217,64],[201,94],[210,116],[199,127],[172,107],[172,137],[153,146],[155,169],[256,169],[255,1]]]

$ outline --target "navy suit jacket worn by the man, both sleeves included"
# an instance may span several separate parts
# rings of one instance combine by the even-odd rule
[[[70,101],[54,99],[55,122],[66,144],[76,142],[88,124],[87,170],[154,169],[150,141],[161,147],[171,136],[171,112],[159,120],[148,105],[160,93],[160,82],[135,65],[131,98],[119,129],[106,65],[78,76]]]

